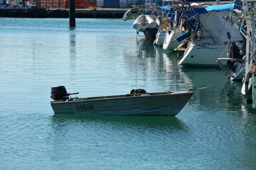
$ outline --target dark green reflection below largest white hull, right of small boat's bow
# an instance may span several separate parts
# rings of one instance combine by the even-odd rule
[[[223,78],[223,72],[219,68],[181,67],[181,72],[190,79],[193,89],[212,85]],[[241,93],[242,84],[223,79],[208,88],[195,91],[189,103],[197,105],[199,110],[204,110],[205,107],[211,108],[209,113],[218,113],[219,109],[235,111],[237,107],[240,107],[241,112],[244,113],[245,108],[248,110],[249,106],[246,105],[246,99]]]

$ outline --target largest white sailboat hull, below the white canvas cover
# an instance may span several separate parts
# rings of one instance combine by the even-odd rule
[[[227,45],[190,45],[185,50],[179,65],[219,67],[216,59],[226,57]],[[221,63],[227,66],[226,62]]]

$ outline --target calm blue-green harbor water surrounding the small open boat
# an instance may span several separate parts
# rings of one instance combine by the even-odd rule
[[[187,91],[222,78],[136,38],[132,21],[0,19],[1,169],[255,169],[256,114],[227,79],[176,117],[55,115],[50,88],[79,97]]]

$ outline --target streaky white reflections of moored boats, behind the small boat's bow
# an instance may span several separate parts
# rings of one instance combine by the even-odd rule
[[[150,40],[139,39],[137,44],[137,48],[124,50],[123,54],[124,62],[129,66],[125,68],[130,72],[128,82],[133,80],[147,91],[192,89],[191,80],[180,70],[176,53],[154,46]],[[153,88],[159,86],[162,89]]]

